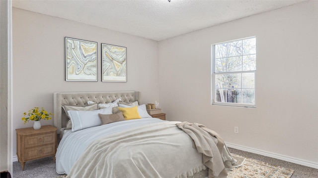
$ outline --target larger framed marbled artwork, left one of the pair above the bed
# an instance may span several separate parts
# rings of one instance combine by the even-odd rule
[[[97,81],[97,43],[65,37],[65,81]]]

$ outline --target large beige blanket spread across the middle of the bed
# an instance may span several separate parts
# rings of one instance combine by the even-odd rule
[[[187,178],[205,170],[202,154],[176,123],[160,122],[93,141],[67,178]]]

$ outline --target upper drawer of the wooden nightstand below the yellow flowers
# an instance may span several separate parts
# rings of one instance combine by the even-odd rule
[[[24,147],[55,143],[55,132],[24,137]]]

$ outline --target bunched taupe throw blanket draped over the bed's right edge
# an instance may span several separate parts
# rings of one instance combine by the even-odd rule
[[[209,178],[227,178],[226,169],[232,169],[236,160],[231,156],[222,137],[202,124],[182,122],[176,124],[194,141],[203,164],[209,168]]]

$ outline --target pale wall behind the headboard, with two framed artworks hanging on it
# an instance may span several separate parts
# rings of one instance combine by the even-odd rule
[[[33,126],[23,125],[23,113],[33,107],[53,112],[53,92],[138,90],[143,103],[158,100],[158,42],[17,8],[12,19],[13,155],[15,129]],[[65,81],[65,37],[98,43],[98,82]],[[101,43],[127,47],[127,83],[100,82]]]

